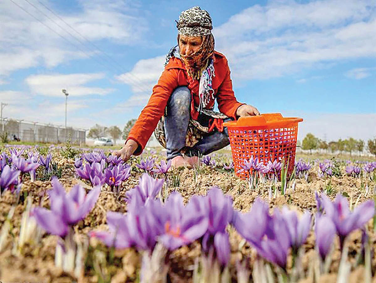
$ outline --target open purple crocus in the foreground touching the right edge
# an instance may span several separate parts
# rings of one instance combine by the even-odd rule
[[[324,194],[321,194],[321,199],[326,215],[332,219],[338,236],[340,236],[341,250],[346,236],[352,231],[362,228],[375,213],[373,200],[360,204],[355,207],[353,212],[350,212],[347,198],[341,194],[337,195],[334,202]]]

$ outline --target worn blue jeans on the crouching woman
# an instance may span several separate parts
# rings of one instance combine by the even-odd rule
[[[185,147],[185,137],[191,118],[191,91],[186,86],[177,87],[167,102],[167,116],[164,119],[166,137],[167,160],[182,155],[180,151]],[[230,121],[226,118],[224,121]],[[193,147],[187,148],[185,155],[199,156],[212,153],[229,145],[227,128],[223,132],[210,132]]]

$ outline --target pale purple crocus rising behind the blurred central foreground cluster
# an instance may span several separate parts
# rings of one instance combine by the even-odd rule
[[[135,188],[126,192],[127,200],[131,200],[138,195],[145,204],[149,199],[155,198],[162,188],[164,179],[154,179],[149,174],[144,173],[139,179],[139,184]]]

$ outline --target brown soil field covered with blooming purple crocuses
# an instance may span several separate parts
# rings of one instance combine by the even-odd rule
[[[374,160],[302,155],[291,176],[283,164],[256,170],[249,160],[252,169],[244,170],[251,177],[241,180],[229,151],[167,172],[164,154],[155,150],[124,164],[110,154],[70,145],[3,146],[0,280],[376,282]],[[20,171],[8,186],[6,166]],[[74,205],[65,207],[68,197],[51,192],[52,182],[66,192],[77,184],[84,189],[76,186]]]

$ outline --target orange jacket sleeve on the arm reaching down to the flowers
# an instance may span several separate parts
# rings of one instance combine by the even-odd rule
[[[133,153],[139,155],[144,150],[147,141],[155,130],[159,119],[164,114],[168,98],[175,88],[177,88],[177,69],[163,71],[158,83],[153,87],[153,93],[149,102],[141,111],[136,123],[129,132],[128,139],[137,142],[138,148]]]

